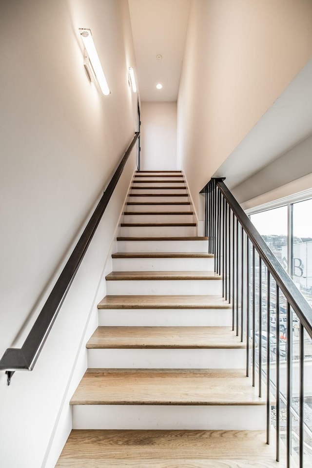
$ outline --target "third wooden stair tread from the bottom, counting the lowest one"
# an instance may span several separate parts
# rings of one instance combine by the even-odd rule
[[[232,327],[98,327],[88,349],[244,349]]]

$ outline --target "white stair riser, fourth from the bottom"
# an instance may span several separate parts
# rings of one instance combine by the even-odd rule
[[[222,294],[220,280],[116,280],[106,281],[108,295]]]

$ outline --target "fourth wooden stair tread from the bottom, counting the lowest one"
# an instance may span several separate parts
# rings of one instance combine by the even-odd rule
[[[98,309],[232,309],[218,295],[107,295]]]

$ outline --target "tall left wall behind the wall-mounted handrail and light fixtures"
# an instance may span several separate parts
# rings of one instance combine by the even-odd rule
[[[135,66],[127,0],[11,0],[0,9],[2,355],[22,344],[132,140],[137,95],[127,79]],[[108,97],[87,78],[79,27],[92,30]],[[134,150],[35,369],[16,372],[10,387],[0,372],[3,467],[39,468],[47,458],[54,466],[54,432],[61,445],[70,430],[70,379],[86,366],[79,349],[97,324],[104,263],[135,159]]]

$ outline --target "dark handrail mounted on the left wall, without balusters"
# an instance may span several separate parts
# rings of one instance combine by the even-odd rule
[[[21,348],[8,348],[0,359],[0,370],[6,370],[8,385],[16,370],[33,370],[138,136],[136,132],[24,344]]]

